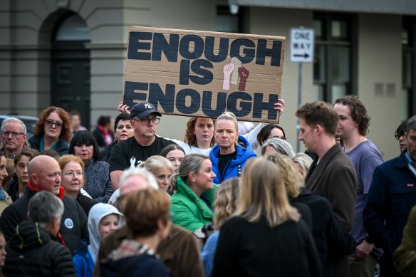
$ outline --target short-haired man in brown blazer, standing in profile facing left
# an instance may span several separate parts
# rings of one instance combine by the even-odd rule
[[[308,152],[317,157],[306,174],[306,189],[326,197],[345,231],[353,227],[357,176],[353,163],[336,143],[338,113],[328,103],[306,103],[296,111],[302,140]],[[350,276],[347,256],[334,261],[333,276]]]

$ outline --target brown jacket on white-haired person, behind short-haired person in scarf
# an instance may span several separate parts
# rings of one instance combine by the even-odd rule
[[[123,239],[132,239],[127,226],[111,232],[101,241],[93,276],[100,276],[100,261],[105,260],[111,251],[117,249]],[[204,277],[196,238],[185,229],[172,225],[169,236],[157,248],[157,254],[174,277]]]

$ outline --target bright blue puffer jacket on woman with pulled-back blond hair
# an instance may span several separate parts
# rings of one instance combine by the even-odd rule
[[[224,174],[220,176],[219,169],[218,169],[218,156],[219,156],[219,146],[215,145],[211,152],[209,152],[209,157],[212,162],[212,171],[217,174],[217,177],[214,179],[215,184],[220,184],[224,182],[226,179],[232,178],[232,177],[239,177],[241,175],[241,172],[243,172],[244,166],[246,165],[246,162],[250,158],[256,158],[256,153],[254,152],[253,148],[251,148],[251,145],[246,140],[245,137],[239,136],[238,144],[236,145],[236,160],[231,160],[227,164],[227,166],[224,169]]]

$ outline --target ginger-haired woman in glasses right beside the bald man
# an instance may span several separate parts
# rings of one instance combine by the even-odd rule
[[[85,181],[83,160],[74,155],[63,155],[58,159],[58,164],[62,170],[61,186],[64,189],[63,194],[76,199],[88,216],[91,207],[97,204],[98,201],[83,195],[81,192]]]

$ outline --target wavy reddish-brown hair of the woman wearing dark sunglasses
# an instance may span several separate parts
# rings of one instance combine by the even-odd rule
[[[39,115],[38,122],[36,122],[36,127],[33,134],[36,136],[42,136],[45,134],[45,121],[51,113],[57,113],[59,117],[61,117],[61,120],[63,122],[59,138],[65,140],[66,142],[70,142],[72,136],[71,117],[68,115],[66,110],[63,110],[63,108],[58,108],[55,106],[48,107],[42,111],[41,115]]]

